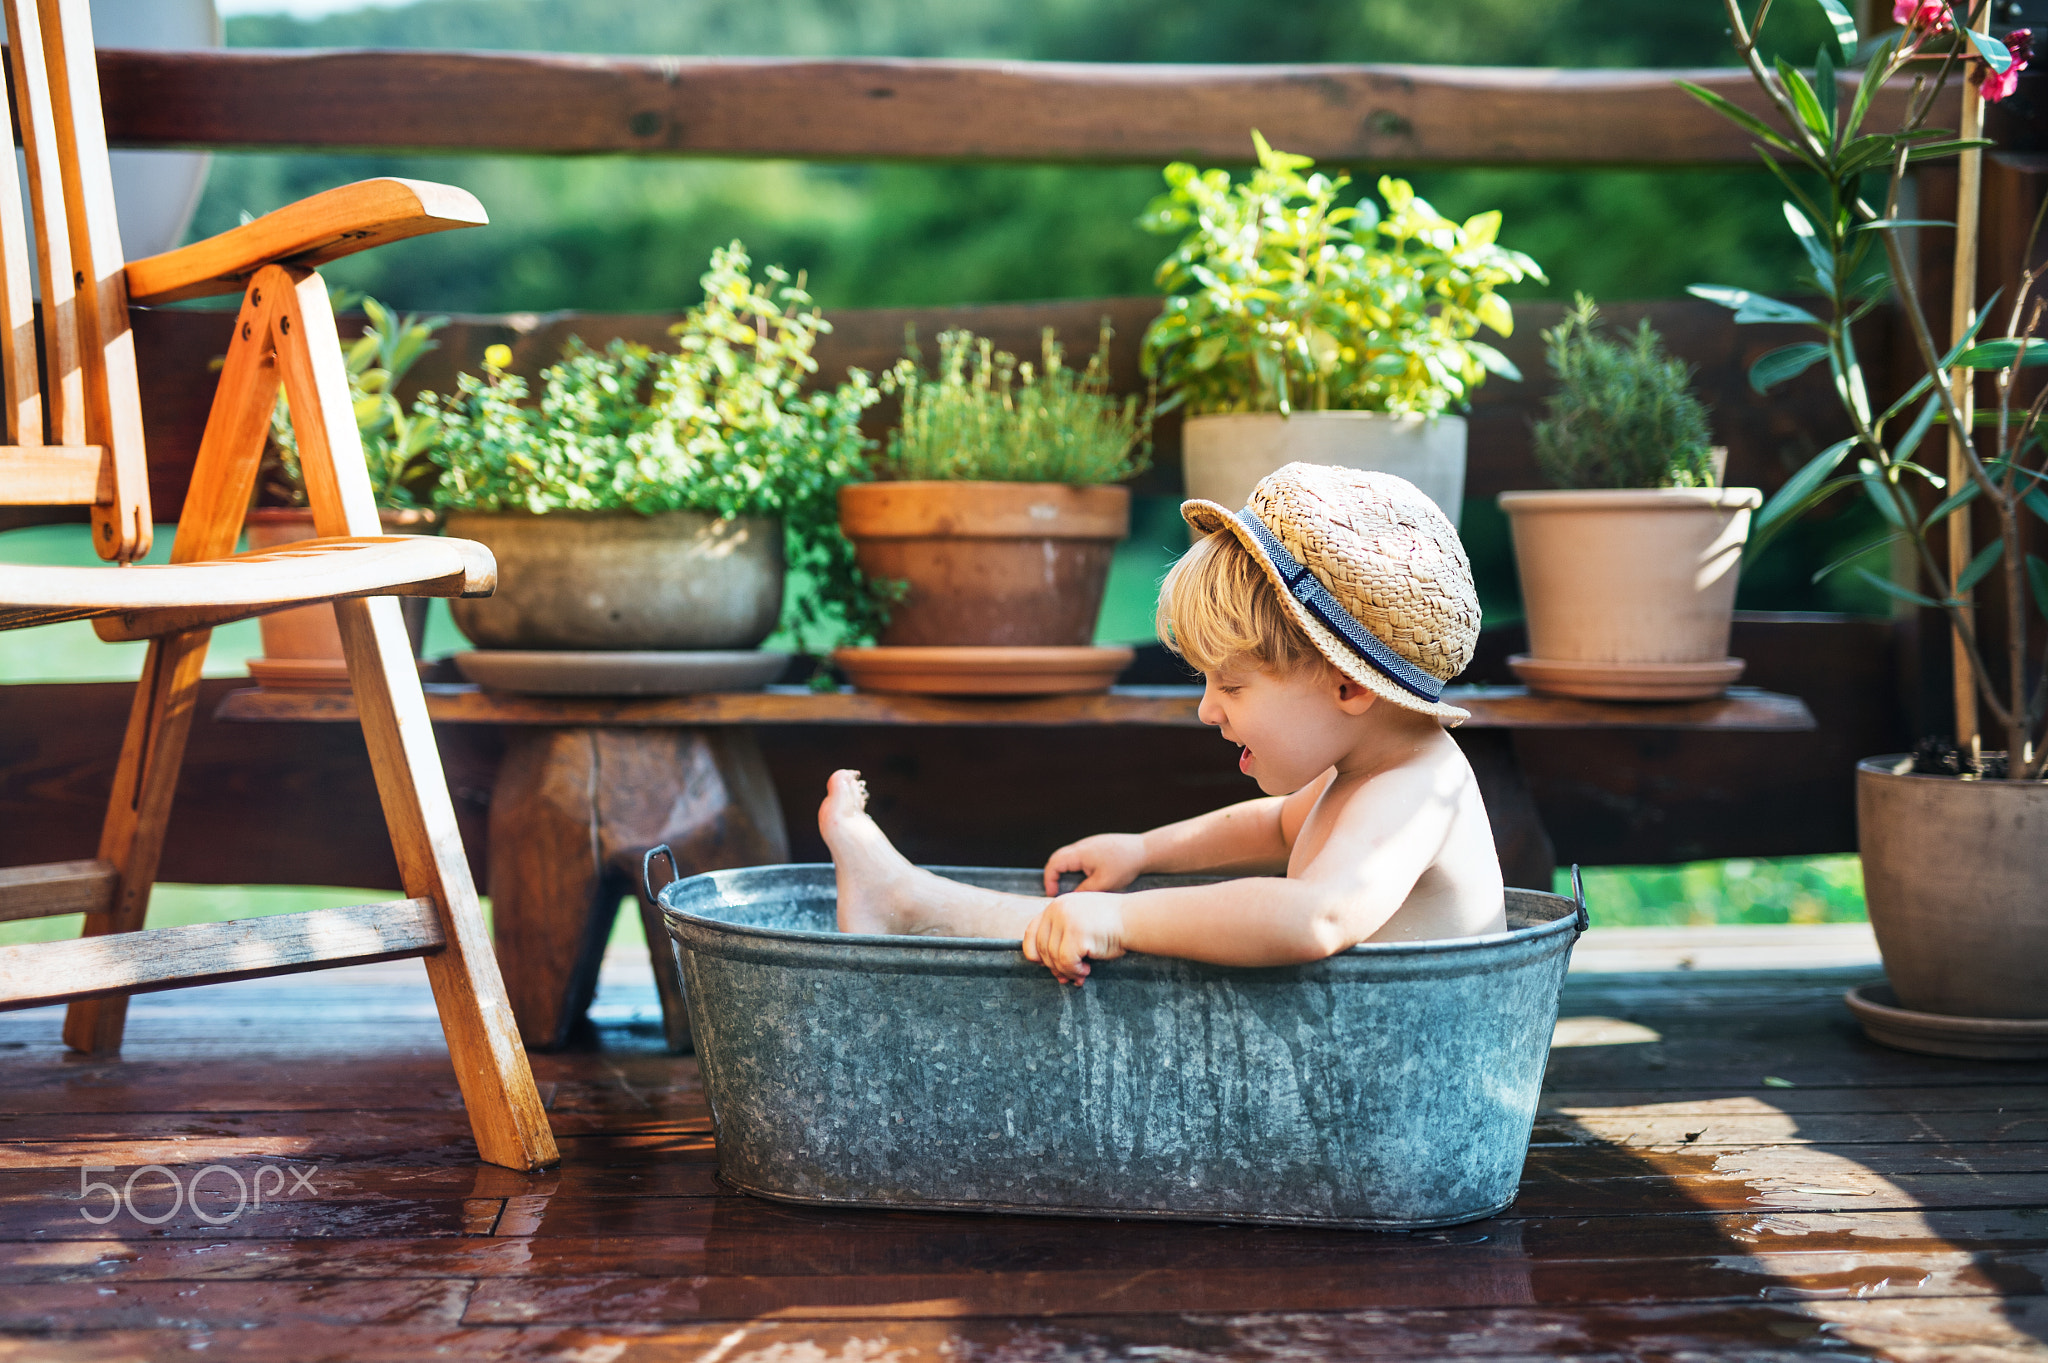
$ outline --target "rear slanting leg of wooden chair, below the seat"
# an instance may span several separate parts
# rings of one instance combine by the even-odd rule
[[[113,909],[86,915],[86,937],[137,931],[150,913],[150,888],[164,853],[164,825],[170,823],[170,798],[178,788],[211,636],[211,630],[186,630],[150,641],[106,800],[106,823],[100,825],[98,855],[115,864],[121,880]],[[125,1025],[127,995],[80,999],[63,1015],[63,1044],[88,1054],[121,1050]]]

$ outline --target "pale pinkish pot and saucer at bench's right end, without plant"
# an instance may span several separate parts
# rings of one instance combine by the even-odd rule
[[[1718,696],[1755,487],[1511,491],[1530,690],[1610,700]]]

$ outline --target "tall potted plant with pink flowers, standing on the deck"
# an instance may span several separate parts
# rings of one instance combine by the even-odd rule
[[[1884,518],[1882,532],[1862,548],[1898,546],[1911,577],[1896,581],[1851,565],[1866,581],[1913,606],[1939,610],[1968,669],[1982,735],[1960,745],[1927,743],[1913,755],[1862,761],[1855,772],[1858,837],[1870,923],[1884,952],[1890,988],[1864,986],[1849,1005],[1872,1038],[1907,1050],[1964,1056],[2048,1056],[2048,688],[2030,659],[2040,616],[2048,612],[2048,563],[2028,553],[2030,518],[2048,516],[2048,479],[2040,444],[2042,401],[2015,401],[2017,370],[2048,362],[2040,272],[2030,270],[2011,299],[1987,307],[1978,321],[1942,348],[1913,289],[1913,256],[1901,241],[1907,172],[1913,162],[1972,145],[1925,127],[1927,111],[1952,72],[1966,72],[1982,98],[2011,92],[2023,57],[1982,33],[1956,33],[1950,10],[1921,4],[1905,27],[1874,45],[1855,98],[1841,106],[1833,57],[1819,55],[1817,78],[1788,63],[1772,72],[1757,57],[1755,35],[1735,0],[1726,4],[1737,51],[1761,86],[1774,123],[1692,88],[1708,104],[1757,135],[1767,158],[1806,178],[1786,174],[1794,201],[1786,219],[1810,264],[1802,280],[1827,299],[1823,315],[1739,289],[1696,287],[1724,303],[1737,321],[1808,327],[1812,340],[1763,354],[1751,368],[1753,387],[1767,389],[1825,362],[1841,397],[1849,434],[1786,481],[1757,516],[1755,540],[1784,528],[1802,510],[1839,491],[1870,497]],[[1853,25],[1837,18],[1841,47],[1855,45]],[[1870,92],[1913,70],[1921,57],[1915,98],[1896,131],[1864,127]],[[1778,162],[1774,160],[1774,166]],[[1866,182],[1872,170],[1886,180]],[[1944,223],[1946,225],[1946,223]],[[1870,268],[1872,254],[1882,268]],[[2028,244],[2028,260],[2034,244]],[[1907,336],[1925,366],[1919,383],[1878,405],[1862,383],[1849,323],[1896,291]],[[1987,340],[1989,338],[1989,340]],[[1964,405],[1970,379],[1991,377],[1997,393],[1991,420],[1972,420]],[[2032,391],[2032,389],[2030,389]],[[1946,479],[1923,442],[1937,426],[1968,432],[1952,438]],[[1974,508],[1997,534],[1952,573],[1931,534],[1950,516]],[[1837,565],[1839,567],[1839,565]],[[1997,647],[1970,610],[1976,583],[2003,583]],[[1960,747],[1960,751],[1958,751]],[[1999,749],[2003,751],[1987,751]]]

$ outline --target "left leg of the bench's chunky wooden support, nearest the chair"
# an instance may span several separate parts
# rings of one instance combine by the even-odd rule
[[[598,851],[598,731],[506,731],[492,788],[492,925],[535,1050],[563,1046],[590,1009],[618,909]]]

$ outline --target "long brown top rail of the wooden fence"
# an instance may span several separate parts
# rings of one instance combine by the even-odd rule
[[[1733,68],[100,51],[121,147],[1149,166],[1243,162],[1260,129],[1372,166],[1753,166],[1751,137],[1679,90],[1681,76],[1761,113]],[[1874,123],[1903,98],[1886,90]]]

